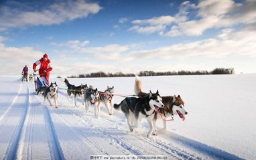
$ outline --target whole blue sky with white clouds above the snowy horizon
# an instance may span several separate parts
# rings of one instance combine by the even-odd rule
[[[97,71],[256,73],[256,1],[1,1],[1,75],[48,53],[52,76]]]

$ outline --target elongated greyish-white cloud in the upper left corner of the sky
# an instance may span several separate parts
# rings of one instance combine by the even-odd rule
[[[64,21],[87,17],[101,10],[97,3],[87,3],[84,0],[54,3],[42,11],[31,11],[28,6],[26,8],[29,9],[0,8],[0,31],[31,25],[60,24]]]

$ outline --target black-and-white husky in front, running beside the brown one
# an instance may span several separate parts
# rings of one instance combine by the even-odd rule
[[[114,105],[115,109],[121,109],[125,113],[130,131],[138,127],[140,119],[147,118],[150,126],[147,137],[150,137],[153,130],[155,130],[153,125],[155,110],[163,107],[162,97],[159,95],[158,90],[156,93],[151,93],[150,91],[145,97],[126,97],[119,105]],[[135,122],[134,124],[133,121]]]

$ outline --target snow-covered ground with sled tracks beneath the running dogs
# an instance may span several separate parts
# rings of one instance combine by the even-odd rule
[[[256,159],[256,75],[190,75],[141,77],[143,91],[181,95],[188,115],[174,117],[168,131],[147,138],[142,120],[133,133],[123,113],[99,117],[82,101],[74,107],[59,90],[59,108],[44,105],[34,84],[0,78],[0,159]],[[133,95],[135,77],[68,79],[100,91]],[[60,79],[51,79],[66,88]],[[124,97],[115,96],[115,103]],[[162,121],[157,121],[162,128]],[[145,155],[147,157],[139,157]],[[94,157],[92,157],[94,156]]]

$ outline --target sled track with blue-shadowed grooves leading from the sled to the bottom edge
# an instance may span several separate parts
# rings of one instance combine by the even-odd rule
[[[38,99],[38,97],[34,95],[34,92],[31,92],[31,87],[27,86],[27,88],[28,106],[27,113],[23,118],[23,127],[20,129],[17,159],[64,159],[58,145],[58,139],[56,139],[48,107],[31,101],[31,99]],[[42,113],[42,115],[38,115],[38,113]],[[44,123],[45,125],[38,126],[38,123],[41,125]],[[42,137],[42,135],[44,136]],[[37,137],[40,137],[41,140],[38,140]],[[38,145],[38,143],[41,143],[41,145]]]

